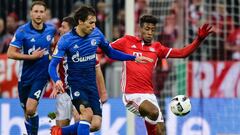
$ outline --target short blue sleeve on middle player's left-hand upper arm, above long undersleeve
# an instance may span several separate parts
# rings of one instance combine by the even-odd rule
[[[67,42],[64,37],[61,37],[54,49],[53,57],[62,58],[65,55]]]

